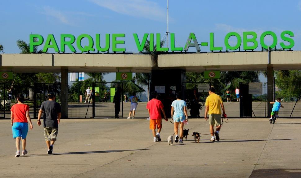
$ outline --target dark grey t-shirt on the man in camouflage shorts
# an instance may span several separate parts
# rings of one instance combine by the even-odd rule
[[[61,112],[60,104],[55,101],[48,100],[42,103],[40,109],[42,109],[44,113],[44,127],[58,128],[57,114]]]

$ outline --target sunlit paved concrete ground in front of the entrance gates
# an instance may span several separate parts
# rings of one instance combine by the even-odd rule
[[[229,119],[219,142],[208,122],[190,119],[188,140],[168,146],[173,125],[163,121],[162,142],[153,142],[146,119],[64,119],[54,154],[47,155],[43,128],[28,134],[28,155],[14,157],[9,120],[0,120],[0,177],[301,177],[301,119]]]

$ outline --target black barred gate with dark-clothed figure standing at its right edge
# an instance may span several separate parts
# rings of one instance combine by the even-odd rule
[[[92,89],[93,118],[115,117],[115,107],[119,111],[118,117],[123,117],[123,83],[93,83]],[[120,95],[120,102],[113,103],[115,94]]]

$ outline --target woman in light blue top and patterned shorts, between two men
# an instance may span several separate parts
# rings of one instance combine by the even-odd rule
[[[178,142],[178,127],[180,124],[180,143],[183,143],[183,129],[184,129],[184,121],[188,121],[187,115],[187,104],[184,100],[180,99],[180,94],[176,93],[177,100],[174,100],[171,104],[171,119],[173,119],[173,130],[176,134],[175,142]],[[173,113],[174,111],[174,113]]]

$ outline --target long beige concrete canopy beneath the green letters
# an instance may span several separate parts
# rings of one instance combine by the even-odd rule
[[[300,70],[301,51],[272,51],[273,70]],[[266,70],[267,51],[178,54],[1,54],[0,71],[13,72],[150,72],[182,69],[244,71]]]

